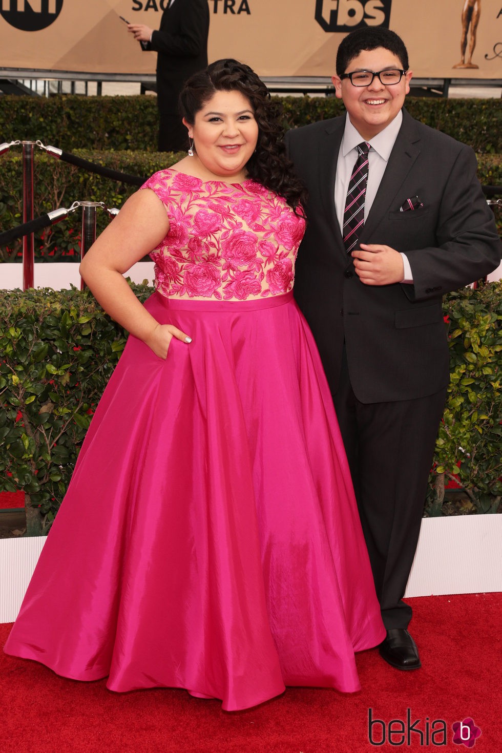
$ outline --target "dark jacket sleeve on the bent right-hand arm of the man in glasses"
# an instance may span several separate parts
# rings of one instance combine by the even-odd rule
[[[403,285],[403,290],[411,300],[457,290],[486,276],[500,264],[502,245],[476,170],[473,150],[462,145],[440,201],[437,245],[406,249],[413,285]]]

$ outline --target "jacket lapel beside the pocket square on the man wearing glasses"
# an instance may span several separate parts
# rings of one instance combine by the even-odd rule
[[[360,240],[362,243],[370,243],[371,237],[375,233],[383,218],[391,212],[394,205],[394,212],[397,208],[394,203],[397,192],[400,190],[403,181],[412,169],[418,154],[420,137],[416,133],[412,117],[403,110],[403,123],[397,134],[394,148],[391,151],[388,165],[380,181],[379,190],[376,192],[375,200],[371,206],[370,213],[364,223],[363,232]]]

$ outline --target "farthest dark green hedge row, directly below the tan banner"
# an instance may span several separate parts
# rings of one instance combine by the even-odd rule
[[[344,111],[328,97],[275,97],[284,107],[284,125],[301,126]],[[408,97],[406,108],[427,125],[469,144],[476,152],[502,153],[500,99]],[[154,151],[157,100],[150,96],[0,97],[2,140],[17,139],[75,149]]]

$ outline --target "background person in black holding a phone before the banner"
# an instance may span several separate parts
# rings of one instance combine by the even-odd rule
[[[187,129],[178,111],[178,96],[193,73],[208,65],[207,0],[169,0],[158,31],[142,23],[127,28],[144,50],[157,52],[159,151],[187,147]]]

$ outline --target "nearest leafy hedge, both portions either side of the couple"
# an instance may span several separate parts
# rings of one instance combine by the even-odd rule
[[[151,292],[132,287],[140,300]],[[456,475],[468,496],[462,511],[494,513],[502,493],[502,282],[449,294],[444,313],[452,380],[425,514],[452,512],[444,486]],[[59,508],[125,340],[89,291],[13,291],[0,300],[0,491],[24,489],[31,532],[47,531]]]

